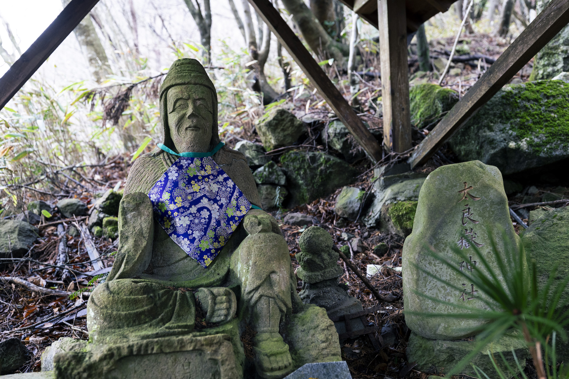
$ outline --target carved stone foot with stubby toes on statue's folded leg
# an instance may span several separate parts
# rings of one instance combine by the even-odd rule
[[[229,288],[200,288],[196,292],[196,300],[205,313],[205,322],[226,323],[237,311],[237,299]]]

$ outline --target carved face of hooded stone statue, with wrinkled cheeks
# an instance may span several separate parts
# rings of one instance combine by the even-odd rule
[[[176,150],[207,152],[212,138],[211,91],[200,85],[179,85],[168,90],[168,124]]]

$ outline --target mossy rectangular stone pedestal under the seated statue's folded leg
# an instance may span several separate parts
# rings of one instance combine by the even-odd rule
[[[56,354],[56,379],[242,378],[229,335],[94,345]]]

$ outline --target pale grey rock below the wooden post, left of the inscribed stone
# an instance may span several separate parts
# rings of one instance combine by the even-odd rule
[[[425,178],[426,174],[405,173],[382,177],[376,181],[371,191],[374,195],[373,202],[365,213],[365,225],[377,227],[380,224],[381,226],[382,213],[384,222],[389,222],[387,205],[402,201],[417,201]],[[386,225],[385,229],[388,230],[389,225]]]

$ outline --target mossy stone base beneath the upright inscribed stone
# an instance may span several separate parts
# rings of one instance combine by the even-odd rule
[[[415,369],[421,372],[445,374],[467,356],[468,353],[472,352],[476,343],[476,340],[432,340],[411,332],[409,343],[407,344],[407,360],[409,362],[417,362]],[[519,364],[525,367],[526,359],[530,357],[526,344],[518,336],[508,334],[485,347],[484,352],[478,353],[472,359],[471,364],[468,364],[460,373],[474,376],[476,372],[472,368],[472,364],[475,364],[490,378],[497,377],[496,370],[486,353],[488,350],[495,353],[494,356],[497,359],[498,366],[507,373],[508,371],[498,352],[502,352],[510,366],[515,369],[516,362],[512,356],[512,349],[516,352]]]

